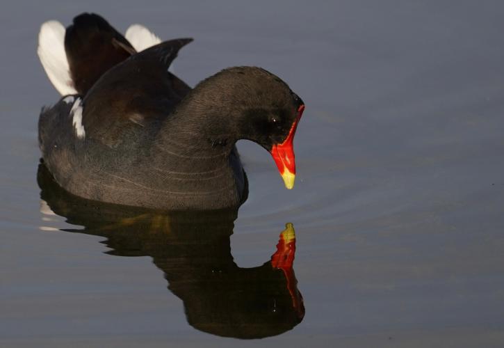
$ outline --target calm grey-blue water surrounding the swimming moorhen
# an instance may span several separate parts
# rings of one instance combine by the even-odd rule
[[[38,6],[9,1],[0,14],[1,347],[503,345],[500,2]],[[72,220],[79,209],[42,214],[37,119],[58,95],[35,54],[36,35],[42,22],[68,24],[84,10],[120,31],[139,22],[162,38],[194,37],[175,61],[190,85],[227,66],[259,65],[302,97],[295,188],[284,189],[267,152],[238,143],[250,198],[231,226],[230,244],[227,237],[212,244],[234,276],[217,283],[220,290],[190,292],[202,301],[197,308],[222,301],[243,313],[258,298],[240,303],[232,292],[255,269],[263,273],[250,289],[266,284],[260,298],[274,292],[288,303],[284,274],[271,276],[264,264],[293,223],[301,322],[260,341],[204,333],[177,289],[184,276],[205,274],[211,251],[174,252],[186,256],[177,268],[173,254],[165,255],[173,240],[111,241],[90,216]],[[219,221],[231,232],[229,220]],[[225,287],[229,301],[218,296]]]

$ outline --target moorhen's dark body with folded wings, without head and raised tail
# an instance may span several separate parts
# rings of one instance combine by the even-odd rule
[[[218,120],[192,113],[190,105],[174,111],[191,92],[167,71],[185,44],[172,48],[176,41],[137,54],[99,79],[83,98],[83,138],[72,125],[71,97],[42,111],[42,157],[64,189],[92,200],[154,209],[243,203],[245,173],[234,142],[214,138],[212,129],[221,127],[212,124]]]

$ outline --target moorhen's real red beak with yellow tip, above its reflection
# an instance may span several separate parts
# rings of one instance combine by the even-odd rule
[[[295,129],[298,128],[298,123],[301,115],[304,111],[304,104],[300,105],[298,108],[298,116],[295,118],[291,130],[288,132],[287,138],[283,143],[273,145],[271,148],[271,155],[277,164],[278,171],[284,179],[285,187],[287,189],[292,189],[294,187],[295,180],[295,156],[293,148],[293,140]]]

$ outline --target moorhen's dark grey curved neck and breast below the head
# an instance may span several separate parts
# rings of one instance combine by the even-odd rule
[[[179,195],[180,207],[237,207],[247,179],[236,151],[236,106],[197,86],[159,125],[144,162],[150,182]]]

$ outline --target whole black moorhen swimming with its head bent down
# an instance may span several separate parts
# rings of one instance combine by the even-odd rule
[[[66,30],[54,21],[42,25],[40,60],[67,95],[39,120],[42,157],[58,184],[123,205],[236,207],[248,191],[235,143],[249,139],[273,155],[286,187],[293,187],[300,97],[254,67],[222,70],[191,89],[168,72],[191,40],[137,53],[158,42],[142,26],[124,38],[87,13]]]

